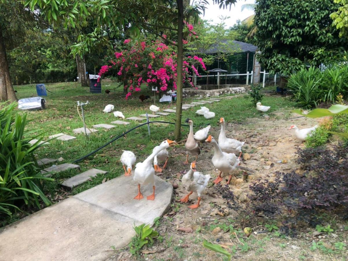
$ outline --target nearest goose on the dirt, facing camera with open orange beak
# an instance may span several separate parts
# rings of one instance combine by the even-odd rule
[[[208,185],[210,175],[203,175],[202,172],[196,171],[196,162],[192,162],[190,170],[182,177],[181,182],[185,187],[185,190],[190,193],[185,197],[180,199],[181,203],[187,203],[192,192],[197,192],[198,202],[196,205],[191,205],[189,208],[198,208],[200,202],[200,195],[204,191],[205,187]]]

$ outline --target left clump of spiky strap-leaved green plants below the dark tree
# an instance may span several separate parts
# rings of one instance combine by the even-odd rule
[[[294,100],[302,108],[309,109],[317,106],[320,85],[320,70],[315,67],[309,67],[291,75],[287,82],[287,89],[294,94]]]

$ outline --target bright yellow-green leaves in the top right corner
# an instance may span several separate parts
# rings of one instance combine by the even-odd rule
[[[348,37],[348,0],[334,0],[340,6],[330,17],[333,19],[333,25],[340,30],[340,37]]]

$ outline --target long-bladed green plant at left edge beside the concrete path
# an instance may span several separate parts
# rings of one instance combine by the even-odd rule
[[[14,114],[15,106],[0,104],[0,219],[24,206],[40,208],[39,199],[50,205],[42,181],[54,180],[41,175],[33,152],[42,138],[25,129],[26,114]],[[34,138],[38,141],[31,145]]]

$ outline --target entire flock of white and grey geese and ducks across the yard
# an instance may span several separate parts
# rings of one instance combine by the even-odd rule
[[[108,107],[109,106],[109,107]],[[104,112],[108,113],[113,110],[113,105],[108,105],[105,107]],[[111,107],[112,106],[112,107]],[[108,107],[108,108],[107,108]],[[261,112],[267,112],[270,107],[269,106],[263,106],[260,102],[256,104],[256,109]],[[153,112],[157,112],[159,110],[159,107],[155,105],[150,106],[150,110]],[[117,113],[117,115],[120,115],[121,112],[114,112],[114,114]],[[196,112],[198,115],[207,115],[209,113],[209,109],[206,107],[201,107],[200,110],[197,110]],[[210,116],[213,112],[210,112]],[[121,113],[122,114],[122,113]],[[215,116],[215,113],[213,113]],[[117,116],[115,114],[115,116]],[[123,116],[123,114],[122,114]],[[122,117],[118,116],[118,117]],[[208,117],[209,114],[207,115]],[[213,117],[214,117],[213,116]],[[124,117],[124,116],[123,116]],[[219,134],[219,140],[216,141],[213,136],[208,135],[209,130],[211,128],[210,125],[207,127],[198,130],[196,133],[193,133],[193,121],[191,119],[187,119],[185,121],[190,126],[190,131],[185,143],[185,149],[186,149],[186,160],[184,164],[189,164],[189,155],[195,156],[195,160],[191,162],[190,164],[190,170],[183,175],[181,181],[182,184],[189,193],[183,197],[180,201],[182,203],[187,203],[189,200],[189,196],[196,192],[198,194],[198,201],[197,204],[189,206],[189,208],[194,209],[199,207],[199,203],[201,200],[201,194],[205,190],[205,187],[207,186],[209,179],[211,176],[209,174],[203,175],[202,172],[196,171],[196,161],[198,159],[198,156],[201,152],[199,142],[206,141],[207,143],[211,144],[214,148],[214,155],[212,157],[212,163],[216,169],[220,171],[219,176],[214,180],[215,184],[220,183],[223,178],[228,177],[228,181],[226,184],[229,184],[232,178],[233,171],[238,167],[241,169],[247,169],[239,166],[240,163],[240,156],[242,155],[242,147],[244,145],[244,142],[241,142],[236,139],[231,139],[226,137],[226,123],[223,117],[220,118],[220,134]],[[317,128],[317,125],[313,128],[308,129],[302,129],[299,130],[295,125],[292,125],[290,129],[295,130],[295,136],[299,140],[306,139],[307,136],[310,136],[313,131]],[[152,149],[152,153],[143,161],[143,162],[136,162],[136,156],[132,151],[123,151],[120,161],[122,163],[122,166],[125,171],[125,176],[132,176],[134,181],[137,183],[138,186],[138,194],[134,197],[134,199],[143,199],[143,195],[140,191],[140,187],[144,185],[152,185],[153,192],[151,195],[147,197],[148,200],[154,200],[155,199],[155,172],[162,172],[166,166],[169,159],[169,153],[167,151],[167,148],[170,146],[176,144],[175,141],[166,139],[164,140],[160,145],[154,147]],[[239,156],[237,157],[236,155]],[[153,162],[153,165],[152,165]],[[158,162],[164,162],[164,165],[162,168],[159,167]],[[135,165],[135,169],[134,168]]]

